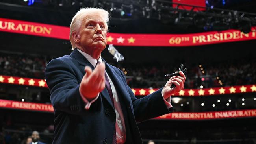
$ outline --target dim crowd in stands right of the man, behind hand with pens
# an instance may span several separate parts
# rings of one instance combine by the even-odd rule
[[[256,60],[239,59],[225,62],[184,64],[187,68],[185,88],[198,89],[256,83]],[[121,66],[130,87],[163,87],[165,74],[178,70],[178,65],[145,63]]]

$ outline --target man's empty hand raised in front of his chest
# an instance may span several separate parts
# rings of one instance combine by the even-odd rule
[[[105,88],[105,63],[98,63],[94,70],[90,66],[85,66],[84,70],[86,73],[79,91],[87,100],[92,100]]]

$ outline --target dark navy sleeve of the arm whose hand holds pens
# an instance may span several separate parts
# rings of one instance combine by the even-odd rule
[[[119,70],[126,83],[124,74]],[[127,90],[130,94],[132,105],[134,109],[134,116],[137,122],[142,122],[150,118],[155,118],[164,114],[173,112],[173,107],[167,108],[166,103],[162,96],[162,89],[153,92],[143,98],[137,99],[132,92],[132,89],[127,85]],[[171,105],[173,105],[171,101]]]

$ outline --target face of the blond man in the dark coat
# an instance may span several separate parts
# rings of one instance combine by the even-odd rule
[[[80,26],[78,36],[79,44],[83,49],[90,51],[104,50],[107,44],[108,25],[98,13],[87,15]]]

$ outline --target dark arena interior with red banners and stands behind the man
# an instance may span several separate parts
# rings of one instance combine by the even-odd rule
[[[137,98],[187,68],[174,112],[138,124],[144,144],[256,144],[255,0],[0,0],[0,144],[53,140],[47,63],[69,55],[81,7],[111,13],[102,57]],[[149,112],[150,113],[150,112]]]

